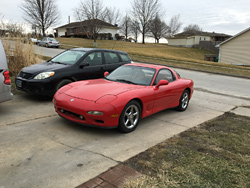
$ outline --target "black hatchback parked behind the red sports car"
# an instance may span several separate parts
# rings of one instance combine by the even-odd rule
[[[51,60],[25,67],[16,77],[16,87],[27,93],[53,95],[60,87],[78,80],[102,78],[104,72],[131,63],[126,52],[74,48]]]

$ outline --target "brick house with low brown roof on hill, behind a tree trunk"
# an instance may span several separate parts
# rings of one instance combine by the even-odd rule
[[[109,24],[107,22],[97,20],[97,27],[100,29],[98,32],[99,38],[114,39],[115,34],[119,27]],[[90,21],[85,20],[82,22],[72,22],[58,28],[55,28],[57,37],[82,37],[88,38],[92,36]]]

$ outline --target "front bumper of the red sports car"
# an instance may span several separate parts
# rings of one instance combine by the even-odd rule
[[[96,104],[94,101],[74,98],[56,93],[53,99],[55,111],[70,121],[95,127],[116,128],[119,113],[111,104]],[[91,115],[88,111],[101,111],[103,115]]]

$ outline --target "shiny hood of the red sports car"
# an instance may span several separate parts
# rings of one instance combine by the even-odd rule
[[[120,93],[144,87],[108,81],[105,79],[79,81],[69,85],[71,86],[71,88],[66,90],[64,94],[75,98],[91,101],[96,101],[105,95],[117,96]]]

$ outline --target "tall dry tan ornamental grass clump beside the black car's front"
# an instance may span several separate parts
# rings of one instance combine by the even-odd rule
[[[39,58],[35,55],[34,45],[24,44],[21,39],[13,41],[11,38],[7,38],[2,42],[12,76],[17,76],[23,67],[39,62]]]

